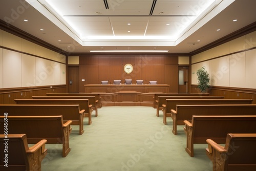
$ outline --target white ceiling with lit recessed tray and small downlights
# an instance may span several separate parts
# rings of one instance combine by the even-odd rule
[[[256,22],[255,6],[255,0],[1,0],[0,19],[71,53],[189,53]]]

